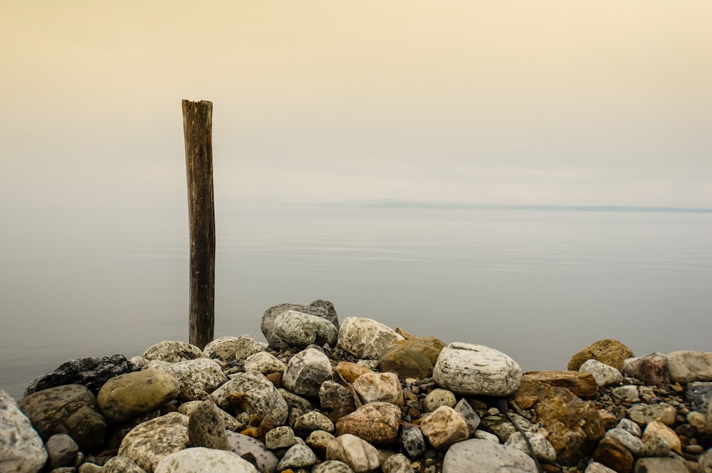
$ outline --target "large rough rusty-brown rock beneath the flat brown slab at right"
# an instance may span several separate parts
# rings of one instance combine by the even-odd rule
[[[565,388],[543,383],[539,388],[537,419],[548,430],[557,459],[566,465],[577,464],[605,433],[598,410],[592,402],[581,400]]]

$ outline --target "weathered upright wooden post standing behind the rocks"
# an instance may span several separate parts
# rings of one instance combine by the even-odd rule
[[[215,209],[213,202],[213,104],[183,100],[185,167],[190,227],[189,343],[199,348],[215,331]]]

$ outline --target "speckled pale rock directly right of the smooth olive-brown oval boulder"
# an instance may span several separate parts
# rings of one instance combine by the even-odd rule
[[[167,363],[165,361],[150,361],[145,370],[161,370],[171,373],[180,385],[179,400],[206,400],[208,395],[219,385],[227,381],[220,365],[209,358]]]

